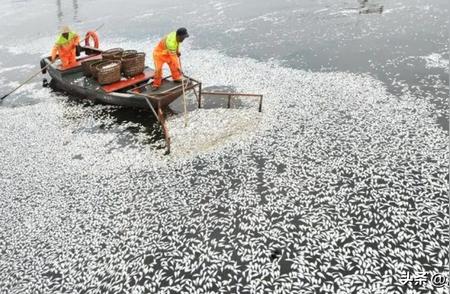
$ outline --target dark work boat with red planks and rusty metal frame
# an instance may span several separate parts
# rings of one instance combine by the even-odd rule
[[[161,124],[166,141],[166,154],[170,153],[170,136],[164,116],[164,109],[188,91],[194,92],[198,108],[201,108],[202,95],[228,97],[228,108],[234,96],[258,97],[259,111],[262,107],[262,95],[241,93],[202,92],[202,83],[192,77],[184,75],[184,83],[176,83],[170,76],[163,78],[160,88],[153,90],[151,83],[154,70],[145,67],[144,72],[130,78],[121,78],[120,81],[108,85],[101,85],[95,78],[86,76],[82,62],[100,60],[102,50],[83,46],[84,56],[77,58],[77,63],[63,69],[59,62],[52,63],[50,57],[41,59],[41,71],[51,77],[50,83],[44,79],[44,86],[50,85],[57,91],[63,91],[80,99],[88,99],[95,103],[119,105],[124,107],[150,109]]]

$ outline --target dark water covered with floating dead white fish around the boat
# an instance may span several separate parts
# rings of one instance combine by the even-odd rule
[[[446,293],[400,278],[448,273],[449,6],[3,1],[2,92],[61,24],[148,56],[183,25],[185,72],[264,111],[189,96],[164,156],[149,112],[8,97],[0,292]]]

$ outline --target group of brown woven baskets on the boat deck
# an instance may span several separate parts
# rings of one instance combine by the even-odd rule
[[[102,53],[102,60],[82,63],[87,77],[94,77],[101,85],[120,81],[121,74],[129,78],[141,74],[145,69],[145,53],[136,50],[113,48]]]

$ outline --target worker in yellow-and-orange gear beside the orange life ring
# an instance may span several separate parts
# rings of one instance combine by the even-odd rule
[[[80,37],[70,30],[68,26],[64,26],[61,30],[61,34],[56,39],[51,53],[51,61],[56,60],[56,56],[59,55],[61,59],[63,69],[70,68],[77,63],[77,46],[79,46]]]

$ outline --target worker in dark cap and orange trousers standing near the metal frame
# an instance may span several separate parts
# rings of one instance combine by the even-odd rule
[[[169,65],[174,82],[181,82],[183,74],[180,69],[179,57],[180,45],[189,37],[185,28],[168,34],[153,50],[153,61],[155,62],[155,76],[153,78],[153,90],[157,90],[162,83],[162,67],[165,63]]]

